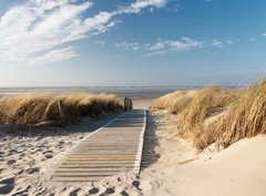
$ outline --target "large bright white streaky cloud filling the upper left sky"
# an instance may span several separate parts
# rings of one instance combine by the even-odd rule
[[[35,62],[62,61],[66,59],[63,54],[75,56],[78,54],[71,53],[68,45],[108,31],[119,22],[115,16],[139,13],[142,9],[165,4],[166,0],[137,0],[125,8],[83,18],[82,14],[93,6],[91,1],[28,0],[0,17],[0,64],[40,64]],[[71,51],[74,52],[74,48]],[[53,58],[48,60],[48,56]]]

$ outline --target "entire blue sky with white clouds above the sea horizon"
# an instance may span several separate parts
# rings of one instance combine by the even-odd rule
[[[1,0],[0,86],[243,85],[265,0]]]

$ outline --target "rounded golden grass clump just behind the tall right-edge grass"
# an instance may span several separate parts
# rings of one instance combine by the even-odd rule
[[[191,103],[177,115],[176,135],[191,140],[195,147],[203,149],[215,142],[207,134],[206,120],[229,107],[239,99],[239,92],[218,87],[206,87],[198,91]]]

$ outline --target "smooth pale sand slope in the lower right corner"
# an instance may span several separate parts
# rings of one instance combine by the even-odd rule
[[[265,153],[264,135],[239,141],[223,152],[184,165],[156,165],[153,175],[144,173],[142,180],[158,180],[161,186],[144,195],[263,196],[266,193]]]

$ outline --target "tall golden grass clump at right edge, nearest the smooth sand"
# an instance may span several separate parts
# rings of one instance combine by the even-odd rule
[[[225,113],[207,127],[223,147],[245,137],[266,133],[266,80],[248,89]]]

